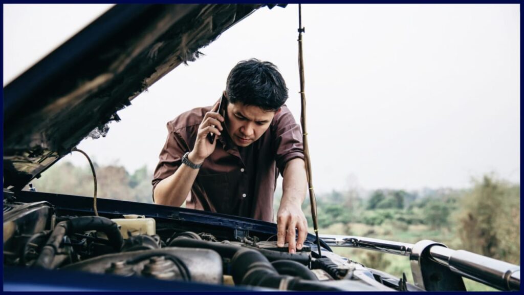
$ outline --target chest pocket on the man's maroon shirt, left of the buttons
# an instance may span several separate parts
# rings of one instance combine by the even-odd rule
[[[197,179],[215,212],[223,214],[233,212],[235,206],[230,192],[228,173],[198,175]]]

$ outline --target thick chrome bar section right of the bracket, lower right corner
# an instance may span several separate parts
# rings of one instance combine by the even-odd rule
[[[500,290],[520,290],[520,266],[442,246],[432,246],[429,251],[436,262],[463,277]]]

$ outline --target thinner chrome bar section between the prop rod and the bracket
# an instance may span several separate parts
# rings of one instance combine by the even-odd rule
[[[409,256],[413,249],[413,244],[366,237],[343,235],[320,235],[319,237],[330,247],[361,248],[401,256]]]

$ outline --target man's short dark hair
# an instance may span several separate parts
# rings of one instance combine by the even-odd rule
[[[227,100],[276,111],[288,99],[286,82],[277,66],[256,58],[238,62],[227,76]]]

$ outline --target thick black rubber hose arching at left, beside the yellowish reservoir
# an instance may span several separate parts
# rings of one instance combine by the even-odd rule
[[[60,249],[60,244],[65,235],[72,235],[78,231],[100,230],[103,231],[111,245],[119,251],[124,244],[124,239],[118,225],[111,219],[100,216],[82,216],[59,222],[54,227],[46,245],[43,246],[34,266],[39,268],[51,269],[54,256]]]

